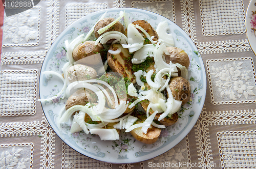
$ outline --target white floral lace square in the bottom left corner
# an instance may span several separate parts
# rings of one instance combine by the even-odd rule
[[[32,168],[33,143],[0,145],[0,168]]]

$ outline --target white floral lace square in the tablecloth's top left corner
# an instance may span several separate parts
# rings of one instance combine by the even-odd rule
[[[4,18],[3,47],[39,45],[40,7]]]

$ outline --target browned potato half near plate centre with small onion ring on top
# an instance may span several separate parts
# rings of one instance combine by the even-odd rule
[[[121,49],[119,54],[113,55],[108,52],[106,56],[111,70],[120,73],[124,77],[129,78],[132,83],[135,83],[136,80],[132,70],[132,55],[129,53],[128,49],[123,48],[120,44],[113,44],[110,50],[117,50],[117,48]]]

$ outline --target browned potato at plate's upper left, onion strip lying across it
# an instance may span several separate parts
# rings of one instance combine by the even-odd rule
[[[110,24],[111,22],[113,22],[115,19],[114,18],[104,18],[102,20],[100,20],[94,28],[94,34],[95,37],[98,38],[100,35],[98,34],[98,30],[100,30],[102,27],[105,27],[106,25]],[[106,32],[110,32],[110,31],[118,31],[124,34],[124,27],[122,25],[121,22],[116,22],[113,26],[111,26],[108,30],[106,30],[105,32],[103,32],[102,34],[106,33]],[[102,35],[101,34],[101,35]]]

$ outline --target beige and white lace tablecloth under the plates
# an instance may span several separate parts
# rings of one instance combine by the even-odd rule
[[[41,0],[28,11],[5,17],[0,168],[256,168],[255,55],[246,37],[248,4]],[[37,101],[40,68],[58,35],[89,13],[120,7],[152,11],[177,23],[199,49],[208,80],[204,108],[189,134],[166,153],[131,164],[101,162],[71,149],[51,129]]]

